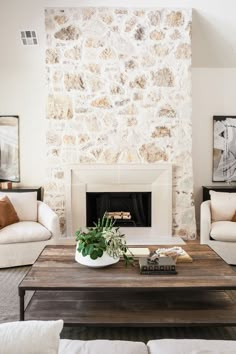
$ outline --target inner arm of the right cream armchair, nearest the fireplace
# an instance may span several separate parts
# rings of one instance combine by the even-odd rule
[[[208,244],[211,231],[211,201],[206,200],[201,204],[201,222],[200,222],[200,243]]]

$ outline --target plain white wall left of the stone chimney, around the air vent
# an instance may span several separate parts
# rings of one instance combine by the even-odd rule
[[[45,158],[44,12],[30,0],[0,5],[0,114],[20,116],[24,185],[42,185]],[[36,29],[40,45],[24,47],[20,30]]]

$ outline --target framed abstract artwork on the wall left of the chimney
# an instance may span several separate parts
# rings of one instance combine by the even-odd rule
[[[20,182],[19,116],[0,116],[0,182]]]

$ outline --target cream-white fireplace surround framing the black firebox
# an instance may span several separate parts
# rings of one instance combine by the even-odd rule
[[[155,244],[172,234],[172,165],[74,164],[64,166],[66,236],[86,227],[86,192],[152,193],[152,226],[121,228],[128,244]]]

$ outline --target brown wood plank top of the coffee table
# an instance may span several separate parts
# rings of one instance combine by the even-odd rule
[[[159,246],[148,246],[156,249]],[[161,247],[169,247],[161,246]],[[183,245],[192,263],[178,263],[176,275],[140,275],[138,261],[121,260],[105,268],[88,268],[74,260],[75,246],[46,246],[19,288],[24,290],[236,289],[236,272],[206,245]]]

